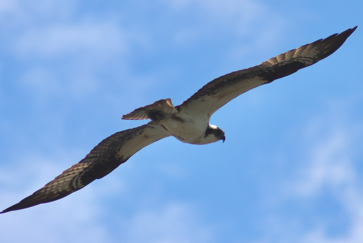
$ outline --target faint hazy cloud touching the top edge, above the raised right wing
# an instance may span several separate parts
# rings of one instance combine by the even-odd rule
[[[264,31],[261,33],[260,31],[255,32],[259,36],[265,36],[269,39],[269,37],[278,36],[278,32],[276,30],[280,30],[284,26],[283,17],[271,12],[271,9],[268,11],[268,7],[265,4],[262,4],[259,1],[253,0],[174,0],[167,1],[167,4],[171,7],[172,11],[175,12],[191,12],[196,11],[196,15],[198,18],[197,22],[189,22],[186,23],[192,24],[190,27],[198,26],[195,29],[191,29],[191,33],[195,33],[196,35],[206,32],[215,32],[216,27],[223,28],[223,30],[229,30],[229,33],[237,35],[246,35],[252,32],[255,28],[262,28],[261,23],[265,24]],[[188,9],[190,8],[190,9]],[[273,21],[269,21],[273,19]],[[266,26],[267,23],[267,26]],[[201,28],[200,25],[203,25]],[[190,35],[186,33],[187,30],[182,30],[178,35],[188,36]],[[268,33],[268,36],[266,36]],[[260,36],[259,36],[260,37]],[[265,45],[266,42],[257,43],[258,45]]]

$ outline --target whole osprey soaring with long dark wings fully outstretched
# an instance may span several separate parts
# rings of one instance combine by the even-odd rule
[[[83,160],[1,213],[65,197],[106,176],[137,151],[164,137],[174,136],[179,141],[189,144],[209,144],[219,140],[224,142],[223,130],[209,124],[214,112],[252,88],[271,83],[326,58],[335,52],[356,28],[357,26],[282,53],[258,66],[216,78],[179,106],[173,106],[171,99],[161,99],[123,115],[122,119],[150,119],[151,122],[117,132],[102,140]]]

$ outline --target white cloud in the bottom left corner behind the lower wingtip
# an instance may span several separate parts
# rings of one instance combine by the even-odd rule
[[[70,159],[52,161],[26,153],[14,170],[2,166],[0,188],[2,207],[11,206],[39,189],[61,172]],[[61,156],[58,156],[58,158]],[[96,188],[97,189],[97,188]],[[85,188],[60,201],[1,214],[0,235],[4,242],[110,242],[107,229],[99,221],[94,188]],[[4,209],[4,208],[3,208]],[[11,232],[11,233],[9,233]]]

